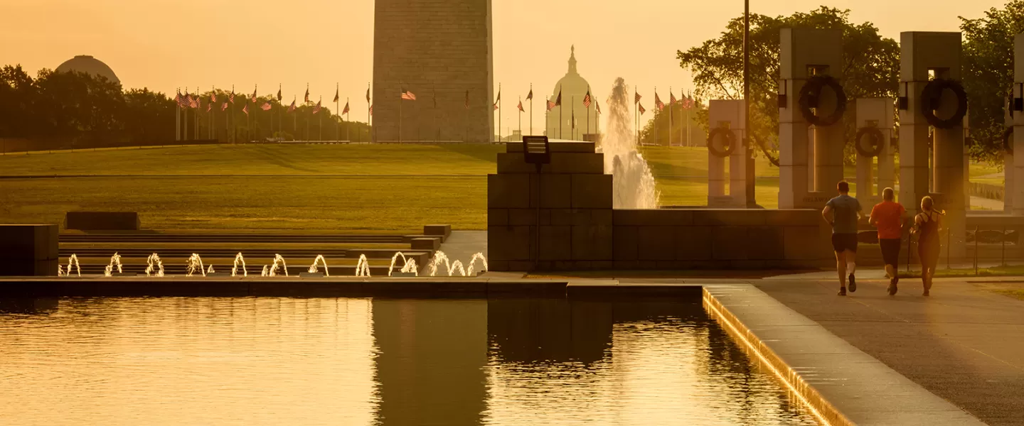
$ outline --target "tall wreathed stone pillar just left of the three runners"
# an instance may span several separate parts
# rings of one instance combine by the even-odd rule
[[[821,208],[843,179],[843,33],[782,29],[779,59],[778,206]]]

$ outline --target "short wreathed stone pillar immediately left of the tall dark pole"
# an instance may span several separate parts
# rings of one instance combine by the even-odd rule
[[[742,208],[746,206],[746,168],[742,140],[743,101],[713,99],[708,102],[708,206]],[[726,161],[728,160],[728,161]],[[725,193],[726,163],[729,168],[729,193]]]

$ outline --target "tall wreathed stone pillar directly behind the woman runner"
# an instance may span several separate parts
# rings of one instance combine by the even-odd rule
[[[907,209],[920,209],[932,195],[946,211],[943,250],[966,254],[967,188],[964,169],[964,116],[967,95],[961,79],[961,33],[900,34],[900,191]],[[929,187],[929,128],[933,131],[932,186]]]

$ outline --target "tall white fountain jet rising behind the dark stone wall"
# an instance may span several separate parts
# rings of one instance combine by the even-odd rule
[[[604,173],[614,176],[615,208],[657,208],[660,193],[647,160],[637,151],[630,113],[630,87],[622,77],[615,79],[608,96],[607,133],[601,140]]]

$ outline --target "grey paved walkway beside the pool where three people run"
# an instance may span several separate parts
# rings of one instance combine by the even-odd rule
[[[895,297],[883,280],[848,297],[830,280],[752,283],[989,425],[1024,425],[1024,301],[963,280],[936,280],[927,298],[921,280]]]

